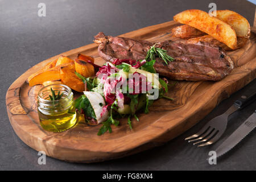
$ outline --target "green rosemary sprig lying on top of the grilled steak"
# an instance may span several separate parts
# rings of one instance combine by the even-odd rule
[[[167,54],[166,50],[155,47],[155,45],[154,45],[154,46],[151,46],[151,48],[147,51],[146,60],[148,60],[148,59],[154,60],[156,56],[162,58],[164,60],[164,62],[166,62],[166,64],[168,64],[168,61],[174,60],[173,57],[171,57]]]

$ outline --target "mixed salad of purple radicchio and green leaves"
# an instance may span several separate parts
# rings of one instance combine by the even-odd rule
[[[138,111],[148,113],[148,107],[157,98],[168,92],[168,82],[158,77],[154,69],[155,60],[115,60],[98,68],[96,77],[80,77],[86,90],[75,101],[76,109],[84,114],[89,123],[102,123],[98,135],[112,132],[112,125],[119,125],[119,118],[137,119]]]

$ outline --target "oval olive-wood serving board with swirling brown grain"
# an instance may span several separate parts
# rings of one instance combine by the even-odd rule
[[[132,31],[121,36],[145,39],[151,42],[175,40],[171,29],[179,26],[174,21],[157,24]],[[113,126],[111,134],[98,136],[99,126],[79,122],[62,133],[51,133],[42,129],[39,123],[36,97],[40,86],[29,87],[26,79],[49,61],[44,60],[23,73],[7,90],[6,106],[15,133],[28,146],[56,159],[77,163],[92,163],[135,154],[171,140],[203,119],[216,105],[230,94],[241,89],[255,78],[256,44],[255,28],[251,28],[250,41],[236,51],[228,52],[236,68],[218,82],[177,81],[170,86],[168,96],[174,101],[160,99],[150,107],[149,114],[138,114],[140,122],[132,121],[133,130],[127,126],[127,118],[121,125]],[[91,55],[96,64],[105,61],[98,56],[97,45],[89,44],[60,55],[74,59],[78,53]],[[171,81],[174,82],[174,81]]]

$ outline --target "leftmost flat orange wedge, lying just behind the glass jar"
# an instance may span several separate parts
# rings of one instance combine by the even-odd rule
[[[30,86],[43,84],[45,81],[53,81],[53,80],[60,80],[60,68],[61,67],[54,67],[51,69],[48,69],[47,71],[40,72],[38,75],[35,75],[32,77],[28,84]]]

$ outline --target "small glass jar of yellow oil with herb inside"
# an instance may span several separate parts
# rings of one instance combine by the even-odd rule
[[[63,96],[51,100],[52,90]],[[51,96],[51,97],[50,97]],[[71,89],[62,84],[44,86],[38,92],[38,115],[40,125],[47,131],[65,131],[76,124],[76,108]]]

